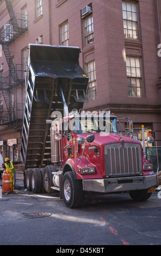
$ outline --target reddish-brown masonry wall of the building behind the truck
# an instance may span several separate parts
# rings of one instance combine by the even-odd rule
[[[94,42],[83,44],[83,25],[80,11],[92,3],[94,20]],[[80,65],[95,59],[97,99],[85,104],[85,108],[110,108],[119,117],[131,116],[135,123],[152,123],[157,131],[158,143],[161,144],[160,102],[161,93],[157,87],[160,76],[159,57],[157,56],[158,31],[156,7],[159,1],[139,0],[139,40],[125,39],[123,35],[122,1],[121,0],[42,0],[43,13],[40,19],[35,17],[33,0],[15,0],[15,13],[27,4],[28,31],[9,47],[15,56],[16,63],[22,63],[22,49],[35,38],[43,36],[44,44],[60,44],[59,26],[66,20],[69,22],[69,45],[79,46]],[[0,28],[9,21],[5,4],[1,7]],[[158,11],[158,16],[160,12]],[[160,16],[159,16],[160,19]],[[161,38],[161,36],[160,36]],[[161,42],[160,42],[161,43]],[[141,57],[143,70],[143,97],[129,97],[127,91],[127,75],[125,55]],[[4,71],[8,70],[4,63]],[[159,88],[161,88],[161,83]],[[21,92],[19,92],[21,94]],[[19,94],[19,95],[20,95]],[[0,134],[0,139],[1,134]]]

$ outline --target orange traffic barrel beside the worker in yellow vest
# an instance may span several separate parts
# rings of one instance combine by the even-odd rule
[[[2,193],[10,193],[14,191],[14,175],[11,170],[4,170],[2,178]]]

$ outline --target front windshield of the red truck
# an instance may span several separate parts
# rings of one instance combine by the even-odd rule
[[[93,132],[115,132],[117,133],[116,118],[107,117],[83,117],[72,120],[74,133],[93,133]]]

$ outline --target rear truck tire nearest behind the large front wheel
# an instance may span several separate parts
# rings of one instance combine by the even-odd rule
[[[54,186],[52,172],[57,172],[57,170],[54,166],[46,166],[45,167],[43,184],[44,184],[45,191],[47,193],[52,193],[52,192],[56,191],[51,188],[52,186]]]

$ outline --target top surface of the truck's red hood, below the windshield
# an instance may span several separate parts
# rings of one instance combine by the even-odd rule
[[[82,136],[85,140],[86,137],[90,134],[95,134],[95,139],[94,142],[90,143],[92,145],[105,145],[105,144],[113,144],[113,143],[118,143],[121,142],[120,140],[123,139],[123,141],[125,142],[129,142],[129,143],[138,143],[140,144],[140,142],[136,141],[135,139],[129,138],[127,136],[123,136],[120,138],[118,133],[101,133],[101,132],[96,132],[96,133],[82,133],[77,135],[77,137]]]

